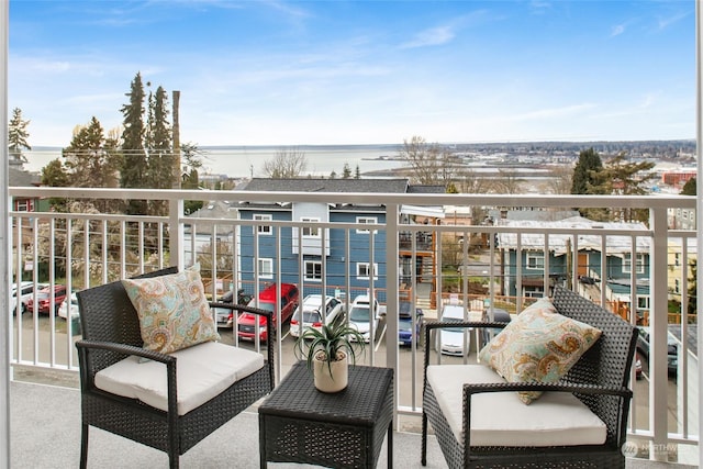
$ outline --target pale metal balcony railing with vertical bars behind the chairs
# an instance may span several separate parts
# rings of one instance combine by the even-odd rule
[[[695,281],[695,232],[671,230],[668,220],[679,209],[693,210],[694,198],[58,188],[11,188],[10,197],[63,198],[72,210],[11,211],[11,261],[18,286],[21,281],[64,284],[70,292],[198,261],[213,298],[238,289],[257,298],[274,282],[295,283],[301,299],[321,292],[336,295],[347,311],[356,295],[376,297],[387,314],[371,330],[373,346],[368,347],[366,360],[395,369],[399,415],[421,411],[420,353],[425,346],[413,340],[410,349],[399,348],[394,312],[402,301],[413,303],[413,310],[422,308],[426,319],[437,317],[448,302],[466,305],[467,313],[491,306],[517,313],[555,283],[569,286],[648,327],[644,379],[636,380],[633,370],[631,437],[649,443],[654,459],[670,451],[678,451],[679,459],[696,454],[698,350],[695,342],[687,339],[695,337],[696,326],[696,315],[689,311],[693,297],[688,294]],[[125,200],[160,202],[165,214],[134,216],[96,209]],[[183,215],[185,201],[193,200],[205,202],[205,208],[198,216]],[[209,203],[227,205],[227,217],[209,216]],[[638,227],[577,221],[532,226],[500,221],[450,224],[440,216],[432,223],[409,222],[402,208],[423,205],[543,215],[573,208],[645,210],[649,216]],[[295,206],[323,216],[299,216]],[[349,216],[349,206],[357,213],[372,212],[377,223],[369,224],[369,216],[358,223]],[[56,299],[51,293],[49,301]],[[20,310],[19,305],[15,313]],[[15,314],[12,324],[12,364],[77,369],[77,322],[30,313]],[[233,340],[238,340],[236,333]],[[277,379],[294,360],[286,345],[290,342],[278,327],[271,342],[280,357]],[[673,369],[668,342],[676,345]]]

